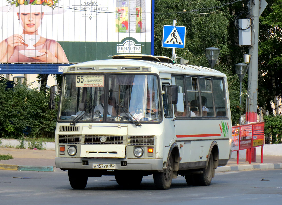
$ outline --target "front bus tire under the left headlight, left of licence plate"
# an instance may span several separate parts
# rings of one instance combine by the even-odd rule
[[[68,170],[70,186],[73,189],[84,189],[87,185],[88,176],[83,172],[76,170]]]

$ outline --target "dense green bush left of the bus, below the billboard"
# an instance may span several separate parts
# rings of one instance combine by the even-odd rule
[[[0,138],[54,137],[56,110],[48,109],[49,93],[0,82]]]

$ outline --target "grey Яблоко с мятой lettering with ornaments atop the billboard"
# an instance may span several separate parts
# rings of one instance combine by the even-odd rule
[[[81,12],[81,17],[89,17],[91,20],[92,17],[100,17],[100,14],[103,12],[109,11],[108,5],[101,5],[98,1],[85,1],[80,5],[73,5],[72,10],[76,11],[85,11]]]

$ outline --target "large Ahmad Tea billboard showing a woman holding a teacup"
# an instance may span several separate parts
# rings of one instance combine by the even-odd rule
[[[154,0],[0,0],[0,73],[153,54],[153,9]]]

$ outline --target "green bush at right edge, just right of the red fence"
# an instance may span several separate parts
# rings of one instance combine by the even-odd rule
[[[282,116],[265,115],[265,143],[272,137],[271,143],[282,143]]]

